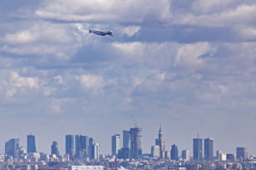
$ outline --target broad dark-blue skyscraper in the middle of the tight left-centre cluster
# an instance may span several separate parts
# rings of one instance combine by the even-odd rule
[[[89,138],[88,136],[76,135],[75,136],[75,157],[85,158],[89,153]]]

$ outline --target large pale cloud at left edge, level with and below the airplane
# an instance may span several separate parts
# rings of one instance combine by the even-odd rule
[[[1,51],[19,55],[52,55],[55,59],[65,60],[72,57],[80,45],[75,33],[68,31],[73,26],[37,21],[26,28],[20,27],[22,30],[17,27],[15,33],[4,35]]]

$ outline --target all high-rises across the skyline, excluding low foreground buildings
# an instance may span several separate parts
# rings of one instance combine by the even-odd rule
[[[121,135],[114,134],[111,137],[111,155],[116,159],[142,159],[143,156],[151,156],[159,159],[189,160],[189,150],[182,150],[181,156],[178,155],[176,144],[172,144],[172,149],[166,150],[166,140],[163,138],[160,127],[158,137],[155,139],[155,144],[151,147],[150,154],[143,154],[142,150],[142,128],[131,127],[130,130],[123,131],[123,141],[121,143]],[[212,161],[213,159],[225,160],[246,160],[247,150],[244,147],[236,148],[236,157],[234,154],[224,153],[217,150],[214,157],[213,139],[193,139],[193,161]],[[13,158],[19,158],[21,153],[36,153],[35,136],[27,135],[27,151],[20,146],[20,139],[10,139],[5,143],[5,155]],[[51,144],[51,154],[60,156],[58,143],[53,141]],[[90,138],[83,135],[66,135],[66,157],[70,160],[88,159],[98,160],[100,156],[100,147],[96,143],[95,138]]]

